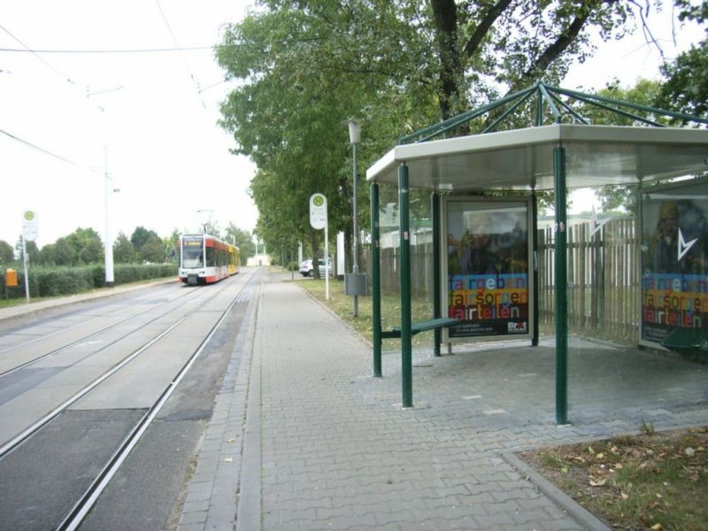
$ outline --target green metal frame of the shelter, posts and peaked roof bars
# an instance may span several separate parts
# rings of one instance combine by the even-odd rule
[[[590,105],[592,107],[613,112],[622,117],[633,119],[651,127],[666,127],[656,119],[644,117],[638,112],[647,112],[654,116],[669,119],[693,122],[695,124],[708,124],[708,119],[691,116],[681,112],[671,112],[648,105],[632,104],[629,102],[590,94],[569,89],[561,89],[546,85],[538,81],[535,85],[514,92],[508,96],[484,105],[472,111],[463,112],[458,116],[443,120],[433,126],[421,129],[412,135],[402,136],[398,143],[427,142],[437,137],[444,137],[458,127],[468,124],[471,120],[480,118],[485,114],[499,112],[481,133],[496,131],[504,120],[512,115],[520,105],[527,103],[531,98],[535,100],[535,126],[543,126],[545,110],[548,109],[555,123],[562,123],[564,117],[570,122],[589,125],[589,120],[584,118],[573,104]],[[565,99],[564,99],[565,98]],[[504,110],[504,107],[509,105]],[[556,192],[556,237],[555,237],[555,275],[556,275],[556,421],[558,424],[568,422],[568,323],[567,323],[567,216],[566,216],[566,150],[562,145],[553,150],[553,171]],[[400,335],[384,333],[381,330],[381,265],[380,265],[380,227],[379,227],[379,189],[373,183],[371,188],[372,211],[372,289],[373,289],[373,375],[381,376],[381,340],[385,334],[390,337],[401,338],[401,366],[403,406],[412,407],[412,315],[411,315],[411,242],[410,242],[410,205],[409,205],[409,180],[408,166],[402,163],[398,167],[398,200],[399,200],[399,229],[400,229],[400,282],[401,282],[401,326]],[[536,218],[537,204],[535,192],[533,196],[533,212]],[[434,277],[435,277],[435,319],[440,318],[441,308],[441,251],[442,235],[440,234],[441,212],[440,196],[434,193],[431,197],[433,209],[434,230]],[[534,231],[534,285],[538,289],[538,242]],[[532,344],[537,345],[538,331],[538,294],[535,293],[535,319],[533,323]],[[441,330],[435,327],[435,356],[440,355]]]

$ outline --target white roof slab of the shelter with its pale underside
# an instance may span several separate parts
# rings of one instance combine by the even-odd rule
[[[366,180],[433,190],[554,189],[553,148],[566,148],[567,188],[635,184],[708,170],[708,130],[556,124],[396,146]]]

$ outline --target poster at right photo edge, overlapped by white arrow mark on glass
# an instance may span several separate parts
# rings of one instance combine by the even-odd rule
[[[708,182],[642,194],[642,340],[708,327]]]

